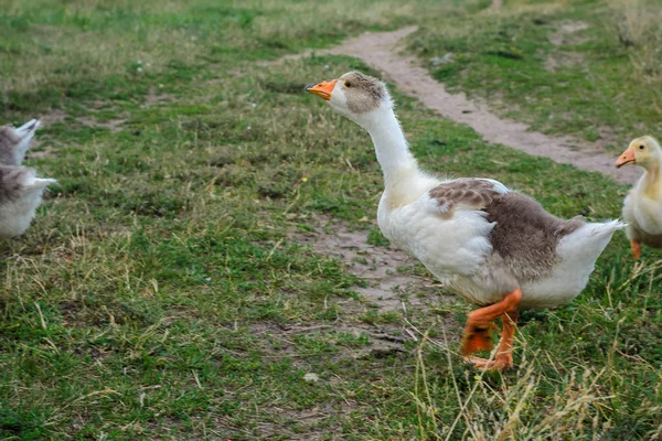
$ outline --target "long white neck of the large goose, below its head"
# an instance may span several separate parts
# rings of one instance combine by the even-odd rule
[[[409,151],[405,133],[389,106],[374,110],[363,126],[375,144],[377,161],[384,172],[386,186],[389,181],[403,173],[418,171],[416,159]]]

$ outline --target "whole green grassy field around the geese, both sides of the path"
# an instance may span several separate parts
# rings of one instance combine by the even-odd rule
[[[655,135],[659,54],[645,32],[660,29],[613,21],[652,13],[572,3],[6,2],[0,123],[49,122],[26,163],[60,184],[26,235],[0,244],[0,435],[661,437],[660,252],[634,265],[618,234],[576,301],[523,312],[516,368],[476,372],[457,353],[470,306],[423,267],[393,271],[428,280],[401,294],[431,304],[384,311],[359,294],[359,261],[305,239],[343,229],[387,246],[369,137],[302,92],[370,68],[258,63],[418,24],[412,51],[456,53],[439,79],[514,118],[586,139],[610,131],[617,150]],[[588,40],[549,43],[577,21]],[[564,51],[583,55],[544,68]],[[559,216],[619,216],[626,187],[485,143],[393,93],[428,170],[499,179]]]

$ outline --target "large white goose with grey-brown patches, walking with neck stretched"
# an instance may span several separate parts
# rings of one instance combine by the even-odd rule
[[[559,219],[533,198],[487,178],[438,178],[421,171],[384,83],[360,72],[313,83],[306,90],[365,129],[384,175],[377,224],[395,246],[442,283],[480,306],[467,319],[463,361],[481,369],[513,364],[521,308],[553,308],[578,295],[619,220]],[[501,318],[493,359],[490,330]]]

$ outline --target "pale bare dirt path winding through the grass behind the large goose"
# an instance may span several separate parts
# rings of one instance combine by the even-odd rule
[[[494,7],[498,8],[498,4]],[[398,42],[414,31],[415,26],[393,32],[367,32],[335,47],[316,53],[342,54],[363,60],[382,71],[403,93],[418,98],[445,118],[470,126],[489,142],[522,150],[535,157],[549,158],[583,170],[600,172],[623,184],[636,182],[641,174],[637,168],[616,170],[616,154],[605,153],[570,137],[552,137],[530,131],[527,125],[502,119],[483,106],[467,99],[465,94],[449,94],[442,84],[418,65],[416,57],[399,54]],[[279,62],[309,56],[311,53],[312,51],[307,51],[289,55]]]

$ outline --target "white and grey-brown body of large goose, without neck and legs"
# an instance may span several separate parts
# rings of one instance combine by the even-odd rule
[[[467,194],[476,200],[462,203]],[[438,181],[412,203],[394,207],[385,192],[377,223],[386,238],[469,302],[493,304],[520,288],[522,308],[554,308],[577,297],[622,227],[558,219],[534,200],[487,179]]]

